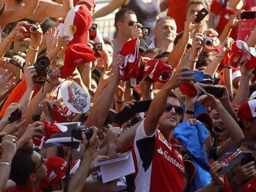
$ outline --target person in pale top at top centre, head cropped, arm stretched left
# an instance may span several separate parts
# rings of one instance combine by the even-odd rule
[[[110,14],[118,7],[122,9],[133,10],[137,16],[138,22],[143,26],[151,28],[150,35],[144,36],[147,44],[153,39],[153,28],[156,24],[156,18],[160,13],[160,5],[158,0],[112,0],[109,4],[102,9],[98,10],[93,18],[104,17]]]

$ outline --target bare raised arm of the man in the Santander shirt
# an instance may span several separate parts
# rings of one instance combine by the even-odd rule
[[[194,75],[194,72],[184,72],[188,69],[188,67],[181,67],[178,69],[151,102],[147,117],[144,121],[145,133],[148,136],[152,135],[156,130],[158,120],[166,107],[169,91],[177,88],[182,83],[194,80],[194,77],[191,76]],[[186,77],[186,75],[190,75],[190,77]]]

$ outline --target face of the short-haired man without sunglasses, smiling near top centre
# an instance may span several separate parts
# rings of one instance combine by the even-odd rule
[[[156,41],[167,40],[173,42],[176,38],[177,26],[174,20],[163,19],[160,20],[154,30]]]

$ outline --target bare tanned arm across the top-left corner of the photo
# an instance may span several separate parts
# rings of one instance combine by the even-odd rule
[[[24,0],[24,6],[20,7],[19,9],[8,9],[4,11],[4,15],[2,16],[1,20],[1,28],[4,28],[7,23],[15,22],[17,20],[23,19],[28,17],[28,15],[33,14],[38,6],[39,0]]]

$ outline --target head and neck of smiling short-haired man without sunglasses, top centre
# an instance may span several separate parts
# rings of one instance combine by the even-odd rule
[[[176,38],[176,31],[177,26],[173,18],[160,17],[156,22],[154,39],[148,48],[158,48],[161,51],[171,52]]]

